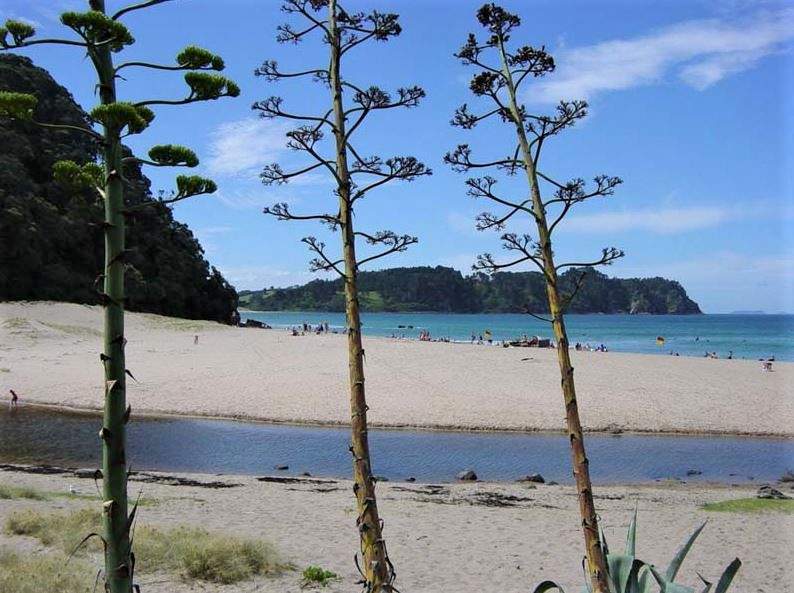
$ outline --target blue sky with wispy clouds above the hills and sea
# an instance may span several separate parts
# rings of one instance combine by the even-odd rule
[[[24,17],[49,36],[68,34],[57,21],[78,0],[4,0],[0,18]],[[110,9],[126,3],[109,0]],[[147,132],[131,139],[140,153],[158,143],[191,146],[199,172],[219,191],[175,207],[209,260],[239,289],[305,282],[310,259],[300,238],[326,237],[311,223],[278,222],[262,207],[286,201],[296,212],[333,209],[320,173],[299,183],[265,187],[262,166],[297,165],[284,149],[284,124],[258,119],[251,104],[283,95],[299,112],[326,109],[319,85],[272,84],[255,78],[265,59],[285,69],[324,65],[321,44],[275,42],[284,22],[278,0],[175,0],[132,13],[126,22],[138,42],[118,59],[170,63],[195,43],[221,54],[226,74],[242,88],[237,99],[161,107]],[[403,34],[355,51],[345,64],[353,82],[385,89],[420,84],[428,94],[416,109],[376,114],[359,139],[367,154],[413,154],[432,177],[373,192],[357,210],[361,228],[390,228],[419,237],[384,266],[450,265],[468,273],[476,254],[498,254],[498,235],[474,230],[487,204],[465,195],[465,175],[443,154],[470,142],[479,154],[501,156],[512,143],[507,128],[475,133],[449,126],[468,91],[471,70],[452,56],[478,26],[481,2],[467,0],[349,0],[349,9],[375,7],[401,14]],[[554,54],[557,72],[526,87],[535,112],[559,99],[586,98],[590,116],[544,149],[543,166],[561,179],[619,175],[625,183],[606,200],[581,206],[557,235],[560,259],[598,254],[615,245],[626,257],[605,271],[616,276],[679,280],[707,312],[736,309],[794,311],[794,3],[727,0],[662,2],[552,0],[504,2],[523,18],[521,44]],[[79,49],[37,47],[25,55],[50,70],[84,107],[94,104],[90,64]],[[180,73],[127,70],[123,99],[179,98]],[[147,171],[153,187],[173,175]],[[505,187],[521,191],[520,185]],[[529,221],[513,225],[531,231]]]

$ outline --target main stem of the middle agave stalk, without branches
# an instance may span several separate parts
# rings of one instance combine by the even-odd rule
[[[340,75],[341,38],[337,27],[336,0],[328,0],[328,28],[331,62],[329,79],[334,112],[336,139],[336,173],[339,178],[339,218],[342,233],[342,250],[345,263],[345,312],[347,315],[348,364],[350,369],[350,425],[351,453],[353,454],[353,492],[356,495],[358,527],[363,556],[364,590],[372,593],[392,591],[393,571],[386,555],[378,505],[375,498],[375,481],[367,436],[367,401],[364,390],[364,348],[361,343],[361,316],[358,302],[358,262],[356,260],[355,234],[351,180],[347,163],[345,142],[345,115],[342,104]]]

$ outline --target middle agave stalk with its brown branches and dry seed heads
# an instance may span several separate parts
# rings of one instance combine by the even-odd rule
[[[284,72],[279,69],[277,62],[266,61],[256,70],[256,74],[271,82],[291,78],[313,79],[329,89],[330,106],[316,115],[302,115],[284,111],[281,97],[269,97],[254,104],[254,109],[262,117],[298,122],[298,127],[287,133],[287,146],[311,157],[310,164],[293,171],[285,171],[278,164],[268,165],[262,171],[261,178],[266,185],[281,184],[311,171],[325,170],[336,187],[337,206],[328,213],[296,214],[287,204],[280,203],[265,208],[264,212],[279,220],[319,221],[341,236],[342,254],[339,257],[329,255],[325,243],[316,237],[305,237],[302,241],[315,254],[310,264],[313,271],[335,272],[344,281],[350,368],[350,451],[353,455],[353,491],[358,510],[356,525],[363,557],[363,566],[359,566],[359,571],[365,591],[393,591],[395,575],[386,553],[378,515],[367,438],[364,348],[357,277],[362,265],[405,251],[409,245],[417,242],[417,238],[390,230],[374,233],[355,230],[353,214],[354,206],[372,190],[395,180],[411,181],[429,175],[431,171],[412,156],[387,159],[362,156],[353,146],[352,138],[372,113],[414,107],[425,96],[425,92],[413,86],[400,88],[396,96],[392,96],[376,86],[357,86],[342,76],[342,61],[348,52],[366,41],[387,41],[400,34],[398,15],[377,11],[369,14],[351,13],[342,8],[337,0],[287,0],[282,10],[300,18],[302,23],[297,29],[291,24],[280,26],[278,41],[298,43],[313,33],[319,33],[328,46],[328,66]],[[347,101],[346,93],[349,97]],[[332,135],[333,157],[321,154],[326,131]],[[376,251],[366,257],[358,256],[357,239]]]

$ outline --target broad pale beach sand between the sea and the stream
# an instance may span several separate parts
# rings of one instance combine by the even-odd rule
[[[102,405],[101,309],[0,303],[0,390],[23,402]],[[199,344],[193,336],[199,335]],[[127,316],[133,412],[292,422],[349,418],[343,335],[293,337]],[[553,350],[366,338],[373,425],[556,430]],[[591,430],[794,435],[794,363],[572,352]]]

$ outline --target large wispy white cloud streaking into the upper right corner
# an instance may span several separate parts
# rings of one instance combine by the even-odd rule
[[[533,86],[532,99],[591,98],[658,83],[673,73],[705,89],[784,49],[794,38],[794,8],[758,11],[744,20],[686,21],[654,33],[563,50],[557,71]]]

